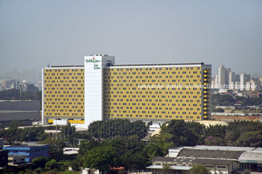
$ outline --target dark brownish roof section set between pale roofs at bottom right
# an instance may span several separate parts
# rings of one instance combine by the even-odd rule
[[[243,151],[220,151],[220,150],[200,150],[200,149],[182,149],[177,156],[201,157],[201,158],[222,158],[238,159]]]

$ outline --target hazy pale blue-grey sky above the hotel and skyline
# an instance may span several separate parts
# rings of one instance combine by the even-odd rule
[[[92,53],[262,73],[262,0],[0,0],[0,74]]]

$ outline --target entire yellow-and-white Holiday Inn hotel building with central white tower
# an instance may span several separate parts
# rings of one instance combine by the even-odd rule
[[[211,65],[115,64],[108,55],[84,65],[43,68],[43,124],[87,127],[103,119],[164,122],[210,116]]]

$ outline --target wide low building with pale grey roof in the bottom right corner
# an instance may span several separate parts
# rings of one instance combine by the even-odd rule
[[[245,171],[258,172],[262,170],[262,148],[235,147],[235,146],[188,146],[169,149],[170,158],[198,158],[233,160],[234,171],[243,173]],[[237,166],[235,164],[237,163]],[[215,169],[215,168],[214,168]],[[212,171],[211,171],[212,172]],[[230,172],[230,171],[228,171]],[[218,173],[219,174],[219,173]],[[223,173],[224,174],[224,173]],[[227,173],[230,174],[230,173]]]

